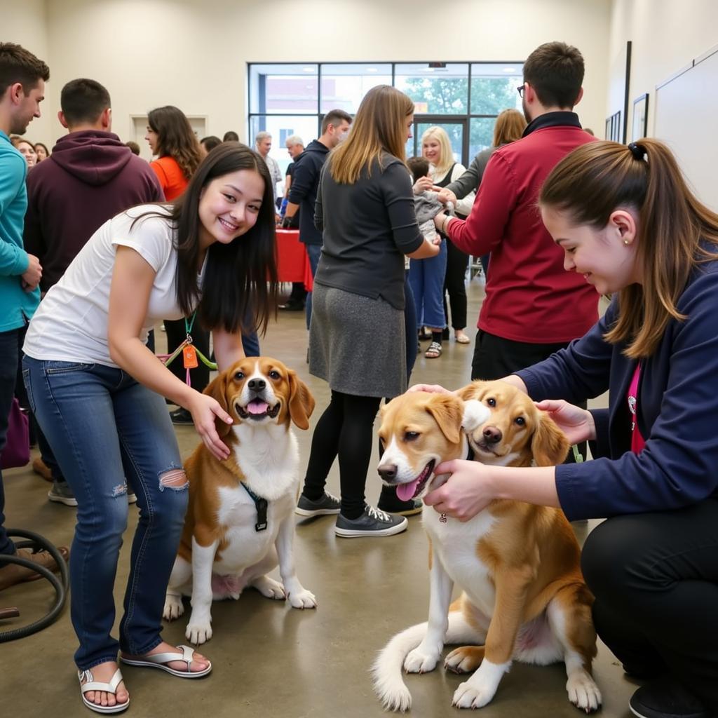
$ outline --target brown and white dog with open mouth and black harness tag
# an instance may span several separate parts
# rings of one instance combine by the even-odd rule
[[[238,361],[205,393],[234,420],[215,422],[230,455],[219,461],[200,444],[185,462],[189,505],[163,612],[167,620],[180,617],[182,596],[191,595],[185,635],[196,644],[212,638],[213,599],[236,600],[247,586],[295,608],[317,605],[294,567],[299,447],[291,429],[292,422],[309,428],[314,398],[271,357]],[[277,564],[283,584],[266,575]]]

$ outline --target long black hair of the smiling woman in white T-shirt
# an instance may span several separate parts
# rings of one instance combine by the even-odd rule
[[[266,332],[269,318],[276,317],[277,272],[274,231],[274,192],[266,162],[239,142],[223,142],[210,151],[192,175],[187,190],[167,211],[150,210],[139,215],[132,227],[148,216],[167,221],[174,229],[177,247],[177,304],[186,317],[200,296],[197,263],[200,257],[199,206],[202,190],[218,177],[248,169],[264,180],[264,195],[256,224],[228,244],[213,243],[207,251],[202,299],[197,308],[200,322],[208,329],[236,333]]]

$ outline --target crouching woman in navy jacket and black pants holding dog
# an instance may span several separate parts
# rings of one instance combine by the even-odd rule
[[[608,517],[583,549],[594,620],[650,718],[718,714],[718,215],[666,146],[576,149],[539,197],[567,271],[614,294],[582,339],[510,376],[583,464],[515,469],[447,462],[426,503],[467,520],[495,498]],[[609,391],[609,408],[577,403]],[[566,401],[564,401],[566,400]]]

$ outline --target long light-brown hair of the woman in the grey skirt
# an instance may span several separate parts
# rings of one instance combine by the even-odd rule
[[[349,136],[332,149],[327,159],[335,182],[353,185],[364,168],[383,154],[391,154],[404,162],[406,118],[414,114],[414,103],[390,85],[371,88],[361,101]]]

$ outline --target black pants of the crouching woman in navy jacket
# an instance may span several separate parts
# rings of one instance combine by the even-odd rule
[[[625,670],[671,673],[718,713],[718,500],[608,519],[582,569],[598,635]]]

